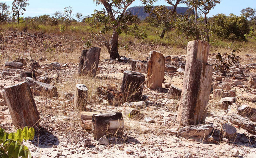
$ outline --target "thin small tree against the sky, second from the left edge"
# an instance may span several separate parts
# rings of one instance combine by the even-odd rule
[[[13,16],[17,17],[18,23],[19,23],[20,15],[24,14],[23,11],[26,11],[25,7],[29,5],[27,1],[28,0],[14,0],[12,3]]]

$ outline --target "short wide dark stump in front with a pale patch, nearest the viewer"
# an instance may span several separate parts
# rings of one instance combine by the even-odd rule
[[[104,135],[116,137],[123,134],[124,120],[122,112],[104,113],[92,116],[92,133],[95,140]]]

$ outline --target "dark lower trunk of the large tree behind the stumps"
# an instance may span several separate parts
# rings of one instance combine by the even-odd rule
[[[108,52],[110,55],[110,59],[116,59],[120,58],[120,55],[118,53],[118,33],[116,30],[114,30],[112,34],[112,39],[110,39],[110,51]]]

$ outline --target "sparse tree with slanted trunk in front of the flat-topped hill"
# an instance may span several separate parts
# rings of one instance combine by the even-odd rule
[[[179,4],[184,4],[187,0],[165,0],[168,4],[172,5],[172,9],[167,8],[164,5],[146,7],[145,11],[149,13],[146,21],[151,25],[161,30],[159,34],[163,39],[166,31],[174,27],[174,21],[177,17],[176,8]]]

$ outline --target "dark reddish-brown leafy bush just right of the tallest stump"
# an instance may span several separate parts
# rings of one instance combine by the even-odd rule
[[[223,53],[218,52],[216,55],[217,64],[215,65],[215,70],[222,73],[223,76],[226,76],[227,71],[232,67],[233,64],[238,62],[238,57],[234,54],[234,52],[238,52],[233,50],[231,53]]]

